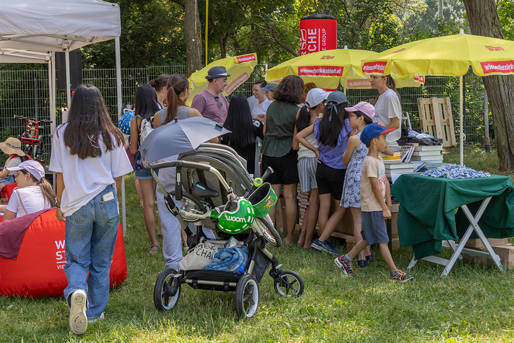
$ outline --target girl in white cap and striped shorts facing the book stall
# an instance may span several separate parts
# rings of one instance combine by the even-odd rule
[[[301,145],[296,139],[297,133],[313,125],[319,119],[320,113],[325,109],[325,100],[327,93],[321,88],[311,89],[305,98],[305,106],[301,107],[298,111],[295,138],[292,140],[292,148],[298,150],[298,175],[300,176],[300,190],[309,194],[309,206],[305,209],[303,216],[302,230],[300,231],[300,238],[298,239],[298,246],[303,246],[304,249],[310,248],[310,243],[313,240],[314,230],[318,222],[319,212],[319,192],[318,184],[316,183],[316,154]],[[306,139],[318,148],[318,141],[314,134],[306,137]]]

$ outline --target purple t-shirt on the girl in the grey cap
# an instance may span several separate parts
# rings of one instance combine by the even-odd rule
[[[318,141],[320,151],[319,157],[321,161],[328,167],[335,169],[346,169],[346,165],[343,164],[343,154],[348,144],[348,133],[352,131],[350,128],[350,120],[344,119],[343,127],[339,137],[337,137],[337,145],[335,147],[325,146],[320,142],[320,122],[321,118],[314,122],[314,137]]]

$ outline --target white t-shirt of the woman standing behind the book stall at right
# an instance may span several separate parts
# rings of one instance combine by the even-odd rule
[[[391,123],[390,118],[394,117],[397,117],[401,123],[401,104],[396,92],[393,91],[393,89],[388,89],[378,97],[377,103],[375,104],[375,117],[373,118],[373,121],[386,126]],[[400,139],[400,136],[400,129],[396,129],[393,132],[388,133],[386,136],[388,145],[398,145],[396,141]]]

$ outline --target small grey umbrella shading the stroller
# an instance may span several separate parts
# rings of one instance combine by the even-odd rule
[[[148,163],[196,149],[201,143],[230,131],[217,122],[193,117],[172,121],[152,131],[138,151]]]

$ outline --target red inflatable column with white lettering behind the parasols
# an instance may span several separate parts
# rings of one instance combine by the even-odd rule
[[[300,55],[337,49],[337,20],[332,15],[312,14],[300,20]]]

